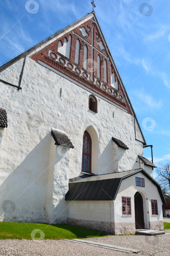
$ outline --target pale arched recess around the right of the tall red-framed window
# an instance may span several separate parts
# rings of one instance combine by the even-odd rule
[[[91,173],[98,174],[98,162],[99,162],[98,131],[92,125],[89,125],[85,129],[85,131],[87,131],[90,134],[90,137],[91,137]]]

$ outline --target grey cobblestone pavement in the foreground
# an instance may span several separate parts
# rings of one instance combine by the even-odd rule
[[[170,233],[170,230],[166,230]],[[86,238],[86,240],[102,242],[139,249],[139,256],[170,255],[170,235],[159,237],[147,236],[107,236]],[[0,240],[0,256],[134,256],[91,245],[78,244],[65,240]]]

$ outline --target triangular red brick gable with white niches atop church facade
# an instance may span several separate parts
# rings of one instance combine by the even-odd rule
[[[65,41],[68,42],[69,36],[71,36],[70,56],[65,57],[58,51],[58,45],[59,41],[61,41],[60,44],[64,44],[64,38],[66,38]],[[79,39],[80,44],[79,64],[75,63],[77,39]],[[103,49],[101,49],[99,45],[102,46]],[[87,47],[87,69],[83,68],[85,47]],[[100,79],[98,78],[97,68],[98,55],[100,56]],[[107,98],[109,101],[127,110],[129,114],[132,114],[122,85],[116,75],[114,65],[111,62],[110,55],[107,52],[105,42],[102,39],[102,34],[92,19],[89,19],[70,30],[51,44],[48,44],[43,49],[32,54],[30,58],[37,63],[41,61],[42,63],[47,64],[60,73],[67,75],[68,78],[74,79],[104,98]],[[106,71],[104,72],[104,62],[107,66],[107,82],[104,81],[104,73],[106,74]],[[92,68],[92,63],[94,64],[94,68]],[[118,90],[111,86],[111,72],[115,74],[114,78],[115,82],[117,81],[118,83]]]

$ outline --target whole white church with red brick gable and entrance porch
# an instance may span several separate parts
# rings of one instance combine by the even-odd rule
[[[145,146],[94,11],[0,67],[0,221],[163,230]]]

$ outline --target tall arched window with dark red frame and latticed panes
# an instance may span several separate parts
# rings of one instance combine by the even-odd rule
[[[82,172],[91,173],[91,137],[87,131],[83,135]]]

